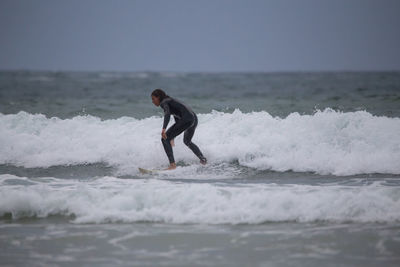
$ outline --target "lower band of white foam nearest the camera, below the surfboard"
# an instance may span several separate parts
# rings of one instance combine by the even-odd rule
[[[74,215],[75,223],[398,222],[400,188],[205,184],[104,177],[8,185],[0,175],[0,216]]]

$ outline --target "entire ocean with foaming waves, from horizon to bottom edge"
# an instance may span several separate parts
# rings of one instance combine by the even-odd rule
[[[162,169],[163,88],[193,141]],[[2,266],[399,266],[400,73],[0,72]]]

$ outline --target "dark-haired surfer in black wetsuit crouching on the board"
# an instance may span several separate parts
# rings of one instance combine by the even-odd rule
[[[164,146],[165,153],[168,156],[169,167],[168,170],[176,168],[174,153],[172,146],[174,145],[174,138],[185,132],[183,135],[183,142],[187,145],[193,153],[200,159],[200,163],[205,165],[207,159],[203,156],[198,146],[192,142],[194,131],[197,127],[197,116],[191,108],[182,102],[168,96],[163,90],[156,89],[151,93],[151,100],[154,105],[161,106],[164,110],[164,123],[161,130],[161,142]],[[174,116],[175,123],[166,130],[171,115]]]

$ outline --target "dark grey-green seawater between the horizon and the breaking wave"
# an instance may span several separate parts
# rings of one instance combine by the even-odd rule
[[[150,93],[162,88],[190,103],[198,113],[238,108],[284,117],[328,107],[399,117],[399,86],[399,72],[1,72],[0,112],[145,118],[156,114]]]

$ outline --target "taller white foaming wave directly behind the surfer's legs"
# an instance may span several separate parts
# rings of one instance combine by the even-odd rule
[[[400,174],[399,118],[330,109],[286,118],[239,110],[198,117],[193,141],[211,163],[238,160],[260,170],[334,175]],[[62,120],[19,112],[0,114],[0,125],[0,164],[49,167],[105,162],[123,173],[134,173],[138,166],[167,165],[160,117]],[[177,161],[198,162],[182,136],[175,143]]]

